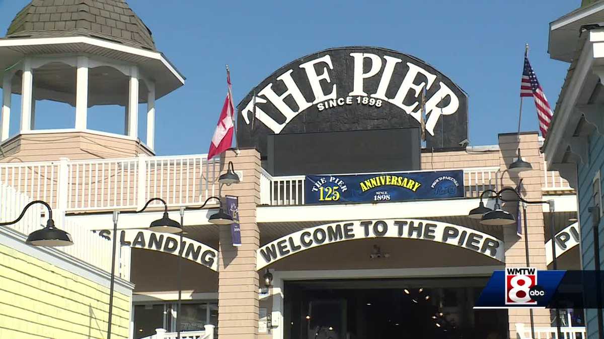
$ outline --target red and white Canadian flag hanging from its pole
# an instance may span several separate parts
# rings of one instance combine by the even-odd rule
[[[233,104],[233,89],[231,87],[231,74],[228,66],[226,66],[226,83],[228,84],[228,93],[226,93],[225,103],[222,106],[222,112],[220,112],[218,125],[214,131],[212,142],[210,142],[208,160],[212,159],[217,154],[228,150],[231,148],[231,144],[233,144],[233,133],[235,131],[235,105]]]

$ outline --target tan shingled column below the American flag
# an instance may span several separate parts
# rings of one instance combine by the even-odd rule
[[[539,142],[537,132],[522,133],[520,142],[516,133],[499,135],[500,145],[500,170],[501,187],[516,188],[518,180],[522,178],[522,197],[528,201],[543,200],[541,191],[541,177],[543,176],[543,163],[539,157]],[[518,148],[521,149],[522,158],[530,162],[532,171],[518,174],[508,173],[507,168],[517,157]],[[506,211],[515,214],[515,203],[509,203],[504,207]],[[527,205],[527,229],[528,229],[528,256],[530,267],[538,270],[547,270],[545,260],[545,235],[544,214],[541,204]],[[522,228],[524,233],[524,226]],[[504,226],[504,242],[506,246],[506,267],[525,267],[525,242],[523,237],[516,235],[516,226]],[[527,236],[524,235],[523,236]],[[509,309],[510,338],[516,338],[516,323],[524,323],[525,328],[530,329],[530,315],[528,309]],[[533,309],[535,327],[550,326],[550,313],[547,309]]]

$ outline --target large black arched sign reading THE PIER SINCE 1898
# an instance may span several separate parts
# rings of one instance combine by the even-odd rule
[[[428,147],[467,138],[467,95],[432,66],[376,47],[315,52],[285,65],[237,105],[237,142],[266,154],[280,133],[419,127]]]

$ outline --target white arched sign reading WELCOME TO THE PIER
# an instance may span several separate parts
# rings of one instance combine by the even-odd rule
[[[503,241],[491,235],[432,220],[342,221],[299,230],[261,246],[257,250],[257,270],[294,253],[334,242],[367,238],[405,238],[442,242],[504,261]]]

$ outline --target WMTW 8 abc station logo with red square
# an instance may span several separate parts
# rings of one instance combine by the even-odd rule
[[[506,305],[537,305],[544,299],[544,288],[537,285],[537,269],[506,267]]]

